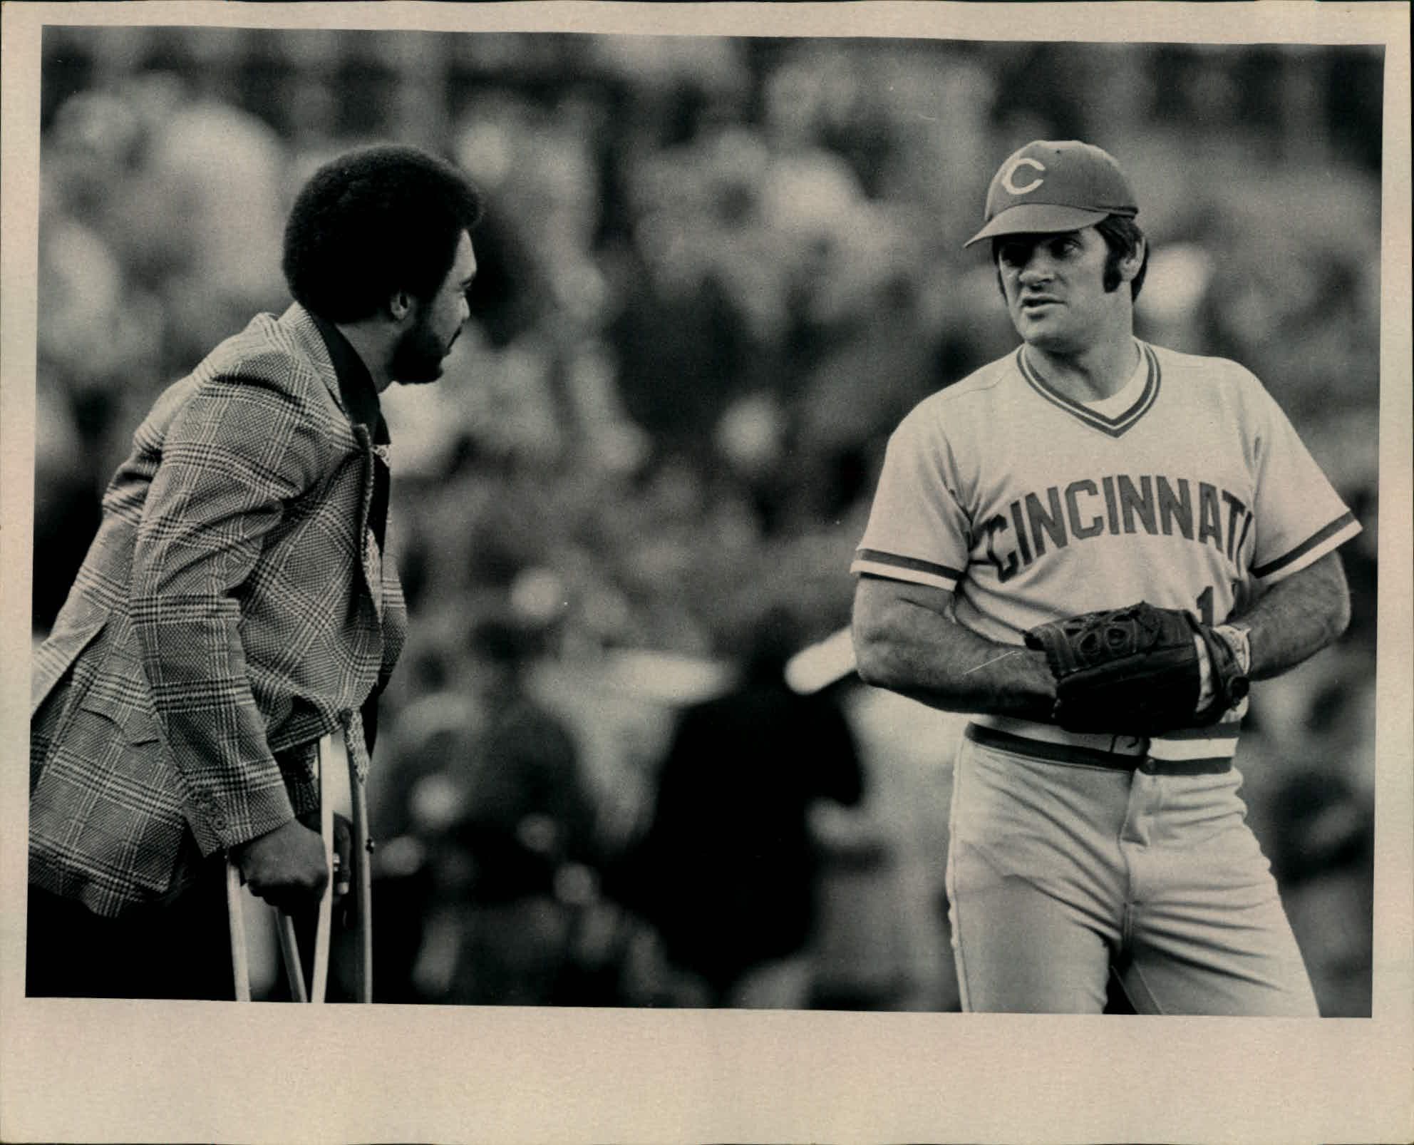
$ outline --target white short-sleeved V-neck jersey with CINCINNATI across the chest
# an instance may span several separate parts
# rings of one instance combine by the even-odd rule
[[[1120,409],[1056,392],[1025,347],[923,399],[889,439],[851,570],[947,589],[960,624],[1021,644],[1138,600],[1220,624],[1360,531],[1250,371],[1135,341]],[[1222,735],[1230,754],[1236,726]]]

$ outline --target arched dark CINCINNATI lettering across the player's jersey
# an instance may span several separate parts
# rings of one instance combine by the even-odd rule
[[[1102,534],[1178,534],[1212,545],[1232,560],[1247,539],[1251,519],[1251,510],[1239,497],[1208,481],[1121,473],[1028,493],[1007,505],[1005,514],[984,521],[983,529],[987,559],[1005,582],[1049,548],[1063,549],[1072,538],[1086,541]]]

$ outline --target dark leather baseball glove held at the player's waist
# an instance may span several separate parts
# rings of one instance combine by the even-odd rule
[[[1212,681],[1202,709],[1199,644]],[[1216,723],[1247,695],[1237,651],[1181,609],[1140,602],[1082,613],[1036,626],[1027,647],[1046,654],[1056,681],[1052,718],[1072,732],[1154,735]]]

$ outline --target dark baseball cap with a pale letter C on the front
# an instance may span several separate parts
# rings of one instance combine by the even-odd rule
[[[1138,212],[1134,188],[1109,151],[1076,139],[1038,139],[993,176],[986,225],[963,246],[997,235],[1079,231],[1106,215]]]

